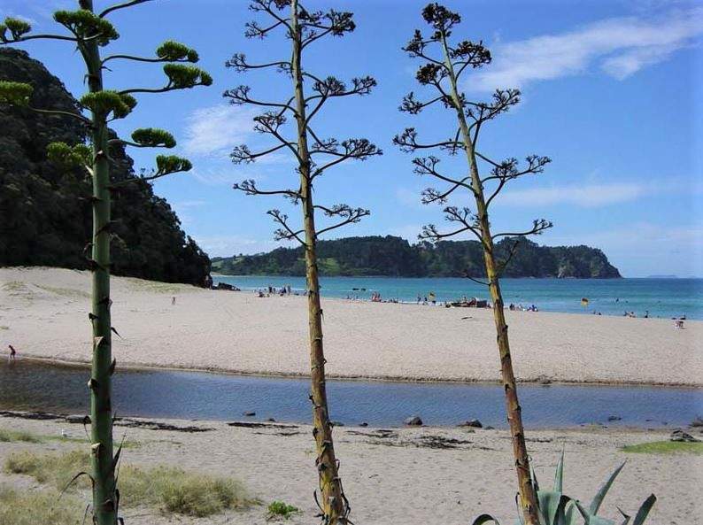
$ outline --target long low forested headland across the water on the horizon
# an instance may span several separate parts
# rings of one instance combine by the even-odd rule
[[[505,259],[513,239],[497,245]],[[410,244],[387,235],[347,237],[318,243],[323,275],[387,275],[394,277],[483,277],[483,252],[477,241]],[[302,247],[277,248],[268,253],[213,258],[220,274],[305,275]],[[506,266],[506,277],[620,277],[606,255],[588,246],[539,246],[522,240]]]

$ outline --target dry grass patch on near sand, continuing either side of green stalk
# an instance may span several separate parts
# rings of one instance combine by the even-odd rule
[[[4,464],[9,474],[31,475],[39,483],[63,490],[74,475],[89,468],[89,456],[84,451],[63,454],[18,452]],[[157,506],[167,513],[205,517],[228,509],[258,503],[250,498],[242,483],[178,467],[122,466],[119,471],[120,505],[126,507]],[[71,490],[89,488],[83,476]]]

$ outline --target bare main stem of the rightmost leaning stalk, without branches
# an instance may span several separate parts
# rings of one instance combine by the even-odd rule
[[[500,354],[500,372],[503,380],[503,388],[506,392],[507,421],[510,424],[510,435],[513,441],[513,454],[515,458],[515,470],[518,478],[518,493],[520,497],[520,508],[524,522],[528,525],[539,525],[537,493],[532,485],[529,473],[529,456],[525,446],[525,429],[522,426],[522,410],[517,394],[517,384],[513,371],[513,361],[510,357],[510,342],[507,336],[507,323],[504,313],[503,296],[500,291],[498,275],[498,265],[493,253],[493,238],[491,237],[491,224],[488,218],[488,208],[483,196],[483,184],[478,174],[476,164],[474,143],[471,140],[467,119],[460,104],[457,78],[452,66],[449,48],[446,42],[446,35],[442,35],[442,45],[444,49],[444,64],[449,71],[449,81],[452,88],[452,101],[457,112],[457,120],[461,131],[464,150],[467,155],[469,172],[471,174],[471,186],[474,190],[476,203],[476,213],[478,225],[481,230],[483,244],[483,261],[486,266],[486,275],[489,282],[491,300],[493,302],[493,319],[496,324],[498,335],[498,351]]]

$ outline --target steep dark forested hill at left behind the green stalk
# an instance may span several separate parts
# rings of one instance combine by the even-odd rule
[[[34,86],[31,105],[73,110],[75,99],[22,50],[0,48],[0,79]],[[0,105],[0,266],[85,268],[92,193],[80,169],[59,170],[46,158],[54,141],[84,142],[86,128],[67,117]],[[134,177],[123,148],[111,151],[112,179]],[[165,199],[144,181],[127,184],[112,205],[112,271],[165,282],[202,285],[210,259],[187,237]]]

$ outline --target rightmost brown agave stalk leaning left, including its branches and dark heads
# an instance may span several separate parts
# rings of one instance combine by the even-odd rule
[[[430,155],[413,159],[414,172],[429,175],[446,184],[443,189],[428,188],[422,192],[422,202],[425,204],[445,204],[458,190],[467,190],[468,195],[475,201],[476,211],[468,207],[447,205],[444,207],[444,217],[455,228],[442,233],[435,225],[429,224],[422,229],[421,239],[437,242],[446,237],[468,232],[478,239],[483,248],[487,282],[493,302],[493,315],[498,334],[498,351],[503,386],[506,392],[507,420],[513,440],[515,468],[518,477],[519,504],[521,513],[529,525],[539,525],[537,516],[537,494],[532,485],[529,472],[529,457],[525,447],[524,428],[522,426],[521,407],[518,400],[513,364],[510,356],[510,344],[507,335],[507,324],[504,314],[503,297],[500,292],[500,275],[517,249],[519,238],[527,235],[537,235],[552,223],[535,220],[531,228],[524,231],[491,233],[489,221],[489,206],[498,197],[502,189],[510,181],[529,174],[539,174],[543,171],[549,158],[531,155],[526,158],[526,164],[520,166],[517,159],[507,158],[495,161],[477,150],[478,136],[483,124],[508,111],[520,100],[517,89],[498,89],[490,102],[473,102],[460,90],[461,74],[471,69],[482,67],[491,62],[491,53],[482,42],[463,41],[452,45],[449,39],[452,30],[460,21],[460,15],[451,12],[439,4],[429,4],[422,11],[422,17],[429,24],[432,33],[422,35],[416,30],[413,38],[403,48],[410,57],[424,61],[418,69],[415,78],[423,87],[436,90],[436,94],[427,101],[416,98],[409,93],[400,105],[400,110],[417,114],[436,104],[444,106],[454,114],[452,134],[449,138],[431,143],[418,142],[418,133],[413,127],[396,135],[393,142],[403,151],[440,150],[450,155],[460,151],[466,155],[468,174],[466,176],[447,175],[440,171],[440,159]],[[433,56],[431,50],[439,49],[438,56]],[[479,169],[479,161],[482,169]],[[490,172],[483,174],[483,166],[489,166]],[[495,241],[501,237],[518,237],[508,251],[506,258],[498,260],[495,253]]]

